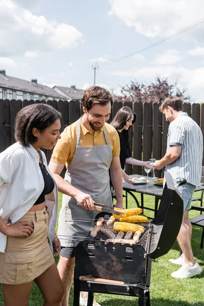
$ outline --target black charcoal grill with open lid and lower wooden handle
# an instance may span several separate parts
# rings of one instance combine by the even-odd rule
[[[96,238],[88,235],[78,244],[75,254],[73,306],[79,306],[80,291],[89,292],[87,306],[92,306],[94,292],[138,296],[139,306],[150,305],[151,260],[169,251],[179,233],[183,218],[183,200],[174,187],[176,183],[167,172],[165,179],[158,214],[151,222],[142,224],[145,231],[139,243],[132,246],[106,244],[107,236],[99,232]],[[96,220],[101,214],[104,214],[103,217],[106,215],[99,213]],[[102,226],[106,227],[106,222],[104,223]],[[108,228],[111,229],[110,226]],[[93,281],[80,280],[86,275],[93,276]],[[118,284],[111,284],[111,281]]]

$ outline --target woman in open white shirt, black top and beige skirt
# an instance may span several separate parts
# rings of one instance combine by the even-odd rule
[[[60,306],[64,294],[54,256],[57,185],[40,148],[60,139],[61,114],[45,104],[21,109],[16,143],[0,154],[0,283],[5,306],[26,306],[33,281],[44,306]],[[54,255],[54,256],[53,256]]]

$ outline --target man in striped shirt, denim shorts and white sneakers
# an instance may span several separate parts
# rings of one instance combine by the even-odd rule
[[[183,177],[186,185],[180,187],[184,201],[184,218],[177,236],[177,241],[183,251],[178,259],[169,259],[171,263],[182,265],[173,272],[175,278],[188,278],[201,272],[198,263],[195,262],[191,248],[192,226],[189,220],[191,199],[196,186],[200,185],[202,171],[202,133],[197,123],[187,113],[183,112],[183,101],[178,97],[166,98],[160,111],[170,122],[168,130],[167,151],[165,156],[155,162],[154,166],[160,170],[170,172],[173,179],[178,182]]]

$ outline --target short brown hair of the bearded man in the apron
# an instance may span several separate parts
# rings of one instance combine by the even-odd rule
[[[82,96],[82,106],[89,111],[95,104],[106,105],[111,103],[113,105],[113,96],[105,88],[99,86],[92,86],[85,90]]]

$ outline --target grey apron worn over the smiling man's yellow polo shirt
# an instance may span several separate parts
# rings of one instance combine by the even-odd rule
[[[65,173],[65,181],[75,188],[88,193],[95,202],[113,206],[109,168],[112,161],[112,148],[104,128],[105,145],[81,146],[81,119],[78,120],[77,147],[73,159]],[[62,246],[77,246],[81,238],[86,237],[93,225],[97,211],[87,211],[77,205],[77,200],[63,194],[62,208],[59,216],[58,235],[64,235],[60,239]],[[74,220],[78,219],[78,221]],[[89,219],[82,222],[80,219]],[[59,237],[61,238],[61,237]],[[70,240],[69,240],[70,239]]]

